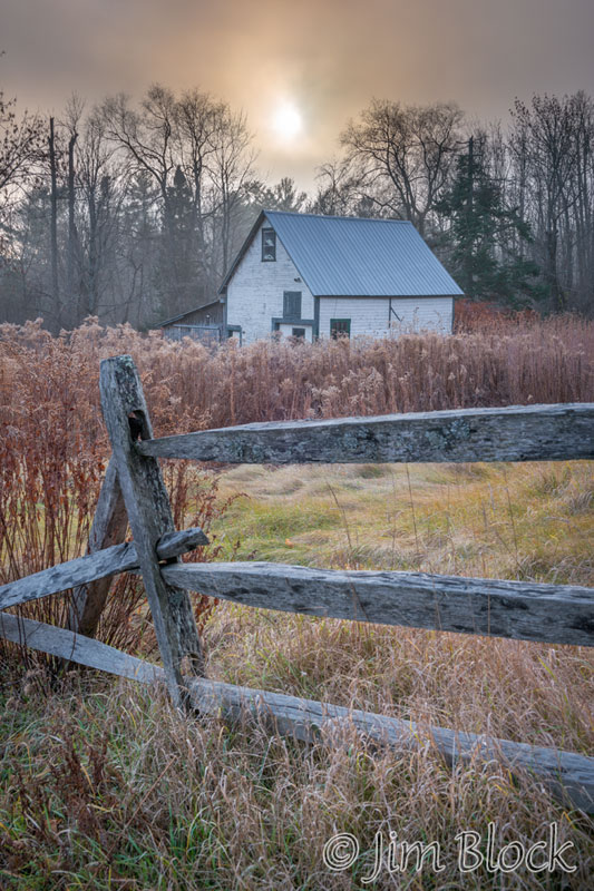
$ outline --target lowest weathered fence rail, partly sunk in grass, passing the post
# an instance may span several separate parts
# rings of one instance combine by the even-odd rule
[[[71,662],[88,665],[140,683],[165,679],[163,668],[128,656],[98,640],[76,635],[65,628],[21,619],[0,613],[0,637]],[[205,678],[184,678],[195,708],[203,715],[223,715],[231,719],[246,714],[272,724],[277,733],[303,742],[319,738],[320,732],[331,745],[349,737],[350,728],[378,745],[416,751],[429,741],[448,764],[473,760],[499,760],[512,770],[523,770],[565,804],[594,813],[594,758],[526,743],[497,740],[481,734],[445,727],[423,727],[410,721],[377,715],[314,699],[301,699],[263,689],[240,687]]]

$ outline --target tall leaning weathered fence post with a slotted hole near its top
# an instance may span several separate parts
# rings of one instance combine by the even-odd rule
[[[132,356],[121,355],[101,362],[100,390],[104,418],[167,685],[174,704],[181,706],[187,702],[182,660],[187,657],[188,669],[203,675],[204,658],[187,591],[166,584],[160,574],[156,545],[163,535],[174,531],[174,525],[157,460],[140,456],[135,448],[138,435],[150,439],[153,430]],[[178,560],[178,557],[174,558],[174,561]]]

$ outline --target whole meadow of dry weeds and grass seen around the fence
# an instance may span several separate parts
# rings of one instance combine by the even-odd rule
[[[156,434],[291,418],[594,401],[594,325],[467,319],[450,336],[213,351],[132,329],[0,326],[0,584],[84,552],[108,457],[101,358],[132,353]],[[411,569],[594,585],[591,462],[207,469],[165,463],[192,559]],[[586,648],[288,616],[195,598],[211,677],[592,754]],[[64,620],[67,597],[27,607]],[[156,658],[143,591],[113,587],[98,636]],[[0,642],[0,885],[14,889],[585,889],[592,821],[477,761],[182,718],[160,691]],[[460,875],[455,836],[528,846],[552,823],[576,870]],[[377,832],[437,841],[430,864],[362,882]],[[337,832],[356,865],[322,861]]]

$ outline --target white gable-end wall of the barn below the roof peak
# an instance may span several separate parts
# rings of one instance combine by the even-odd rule
[[[270,224],[260,227],[227,285],[227,324],[242,326],[243,343],[270,336],[272,320],[283,314],[284,291],[301,291],[301,316],[313,319],[311,291],[277,236],[276,260],[262,262],[263,228]]]

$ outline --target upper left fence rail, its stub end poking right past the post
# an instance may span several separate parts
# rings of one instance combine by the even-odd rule
[[[157,559],[168,560],[207,544],[208,539],[198,527],[186,529],[183,532],[171,532],[157,541]],[[0,587],[0,609],[76,588],[77,585],[89,585],[95,579],[111,578],[116,572],[134,572],[138,569],[139,562],[134,541],[114,545],[96,554],[77,557],[75,560],[51,566],[32,576],[2,585]]]

